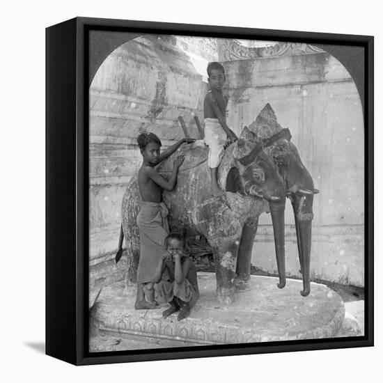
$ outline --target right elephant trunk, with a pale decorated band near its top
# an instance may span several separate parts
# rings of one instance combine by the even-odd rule
[[[303,290],[301,295],[310,294],[310,258],[311,258],[311,226],[313,221],[313,197],[295,196],[292,208],[295,216],[299,263],[301,265]]]

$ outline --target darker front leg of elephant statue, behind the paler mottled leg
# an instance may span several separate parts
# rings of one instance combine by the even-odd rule
[[[247,219],[242,230],[240,247],[238,249],[237,276],[235,288],[237,291],[250,289],[251,285],[251,252],[253,250],[254,238],[258,229],[258,217]]]

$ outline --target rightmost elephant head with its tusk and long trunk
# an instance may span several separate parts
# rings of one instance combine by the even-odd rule
[[[313,221],[313,196],[318,193],[314,189],[313,178],[308,173],[297,148],[288,139],[277,139],[267,150],[274,159],[278,171],[286,185],[286,196],[292,203],[297,231],[299,263],[303,278],[302,296],[310,293],[310,256],[311,256],[311,226]],[[284,263],[284,261],[283,261]],[[280,279],[285,279],[284,270]]]

